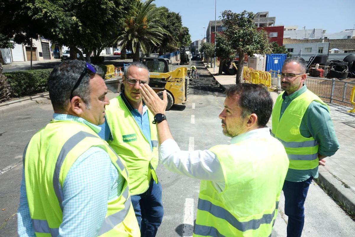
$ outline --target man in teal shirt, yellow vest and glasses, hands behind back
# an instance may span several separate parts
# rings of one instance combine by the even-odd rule
[[[284,90],[272,111],[272,135],[280,140],[290,160],[285,178],[287,236],[300,237],[304,226],[304,203],[318,165],[339,149],[329,107],[304,84],[306,62],[301,57],[285,60],[280,78]]]

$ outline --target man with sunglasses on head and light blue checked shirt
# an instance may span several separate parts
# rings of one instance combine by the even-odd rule
[[[27,144],[18,208],[22,236],[140,236],[124,161],[98,136],[104,73],[81,60],[48,78],[54,115]]]

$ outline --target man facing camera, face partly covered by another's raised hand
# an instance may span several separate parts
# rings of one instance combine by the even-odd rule
[[[154,115],[142,100],[140,84],[149,83],[149,71],[141,62],[125,67],[123,91],[106,107],[100,136],[125,160],[129,188],[141,235],[154,237],[163,220],[162,186],[158,165],[157,128]]]

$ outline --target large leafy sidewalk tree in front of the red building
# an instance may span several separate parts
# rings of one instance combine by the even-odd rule
[[[229,39],[232,49],[239,55],[236,83],[242,82],[244,55],[267,54],[271,52],[269,38],[265,31],[257,31],[253,12],[222,12],[222,22],[226,27],[223,32]]]

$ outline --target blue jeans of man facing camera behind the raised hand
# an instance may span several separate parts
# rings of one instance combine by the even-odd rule
[[[136,213],[141,237],[154,237],[163,220],[162,185],[153,178],[146,192],[132,195],[132,206]]]

